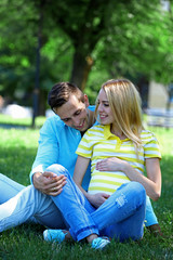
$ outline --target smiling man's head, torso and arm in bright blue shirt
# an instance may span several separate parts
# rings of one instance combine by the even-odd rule
[[[94,106],[89,107],[88,96],[68,82],[57,83],[52,88],[49,105],[59,117],[49,118],[40,131],[38,154],[30,178],[36,188],[55,196],[61,192],[64,179],[51,179],[54,174],[44,170],[48,166],[58,162],[72,174],[77,158],[76,148],[82,133],[94,122]],[[85,190],[89,178],[90,171],[84,180]]]

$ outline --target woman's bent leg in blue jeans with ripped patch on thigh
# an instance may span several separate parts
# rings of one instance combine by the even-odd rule
[[[121,242],[143,237],[146,193],[143,185],[121,185],[97,210],[91,213],[99,231]]]

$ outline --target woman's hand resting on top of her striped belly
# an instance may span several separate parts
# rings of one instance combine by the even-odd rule
[[[98,171],[123,171],[123,166],[127,162],[117,158],[117,157],[109,157],[103,160],[99,160],[96,164],[96,170]]]

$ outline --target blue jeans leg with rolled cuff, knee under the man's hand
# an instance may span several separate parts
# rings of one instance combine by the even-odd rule
[[[57,176],[67,177],[67,183],[57,196],[51,196],[56,207],[62,211],[66,223],[71,227],[70,234],[74,239],[81,240],[91,234],[98,234],[98,230],[93,222],[89,211],[95,209],[75,184],[68,170],[61,165],[52,165],[46,168]],[[88,206],[86,206],[88,204]],[[88,210],[85,209],[88,208]]]

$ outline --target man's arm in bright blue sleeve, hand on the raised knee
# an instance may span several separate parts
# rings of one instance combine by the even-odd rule
[[[58,158],[58,140],[55,120],[55,117],[46,119],[40,130],[39,147],[30,172],[30,181],[34,186],[40,192],[53,196],[59,194],[66,183],[64,176],[57,177],[53,172],[45,172],[49,166],[57,164]]]

